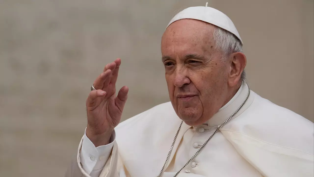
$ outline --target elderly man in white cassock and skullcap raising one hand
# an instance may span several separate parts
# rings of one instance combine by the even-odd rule
[[[161,53],[171,102],[119,124],[128,88],[115,93],[121,60],[106,65],[66,176],[314,175],[313,123],[250,90],[242,40],[225,14],[184,9],[167,26]]]

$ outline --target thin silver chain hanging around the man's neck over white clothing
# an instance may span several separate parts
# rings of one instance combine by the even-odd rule
[[[223,124],[221,124],[221,125],[214,131],[214,133],[205,141],[205,143],[198,149],[198,151],[195,152],[195,154],[190,158],[190,160],[187,161],[187,163],[186,163],[173,177],[176,177],[176,176],[180,173],[180,171],[181,171],[184,167],[186,167],[186,166],[194,159],[194,157],[196,157],[196,156],[198,155],[198,153],[199,153],[200,151],[202,151],[202,149],[204,148],[204,146],[205,146],[205,145],[208,143],[208,141],[214,136],[214,134],[216,134],[216,132],[217,132],[221,127],[223,127],[228,121],[230,121],[230,120],[232,119],[233,116],[236,115],[237,112],[240,111],[240,109],[242,108],[242,106],[244,105],[244,103],[246,102],[246,100],[247,100],[247,99],[249,98],[249,96],[250,96],[251,90],[250,90],[250,87],[249,87],[249,86],[247,86],[247,87],[249,88],[249,91],[248,91],[248,93],[247,93],[247,96],[246,96],[245,100],[244,100],[243,103],[240,105],[240,107],[239,107]],[[162,174],[163,171],[164,171],[165,165],[166,165],[166,163],[167,163],[167,161],[168,161],[168,159],[169,159],[169,157],[170,157],[172,148],[173,148],[173,146],[174,146],[174,144],[175,144],[175,142],[176,142],[176,138],[177,138],[177,136],[178,136],[178,133],[179,133],[179,130],[180,130],[180,128],[181,128],[182,123],[183,123],[183,120],[181,121],[181,124],[180,124],[180,126],[179,126],[179,129],[178,129],[177,132],[176,132],[176,136],[175,136],[174,140],[172,141],[172,144],[171,144],[169,153],[168,153],[168,155],[167,155],[166,161],[165,161],[165,163],[164,163],[164,166],[161,168],[161,171],[159,172],[159,174],[158,174],[157,177],[161,177],[161,174]]]

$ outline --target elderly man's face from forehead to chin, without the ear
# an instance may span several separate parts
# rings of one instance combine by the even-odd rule
[[[227,62],[215,49],[214,26],[199,20],[172,23],[161,40],[169,97],[188,125],[205,123],[228,97]]]

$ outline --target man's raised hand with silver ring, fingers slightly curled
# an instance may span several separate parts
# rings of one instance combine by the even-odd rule
[[[105,66],[93,84],[97,90],[91,91],[86,100],[86,135],[96,147],[109,143],[127,101],[126,86],[123,86],[116,96],[116,80],[120,65],[121,59],[118,58]]]

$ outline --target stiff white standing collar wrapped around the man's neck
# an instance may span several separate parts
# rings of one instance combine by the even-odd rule
[[[245,82],[243,82],[239,90],[232,97],[232,99],[227,104],[225,104],[225,106],[220,108],[218,112],[214,114],[214,116],[210,118],[204,124],[207,124],[209,127],[219,126],[223,124],[240,107],[240,105],[245,100],[248,91],[249,91],[248,85]],[[249,97],[252,97],[252,96],[249,96]],[[234,119],[235,117],[240,115],[243,111],[245,111],[246,108],[252,104],[252,101],[253,99],[248,99],[246,103],[242,106],[240,111],[236,113],[236,115],[232,117],[232,119]]]

